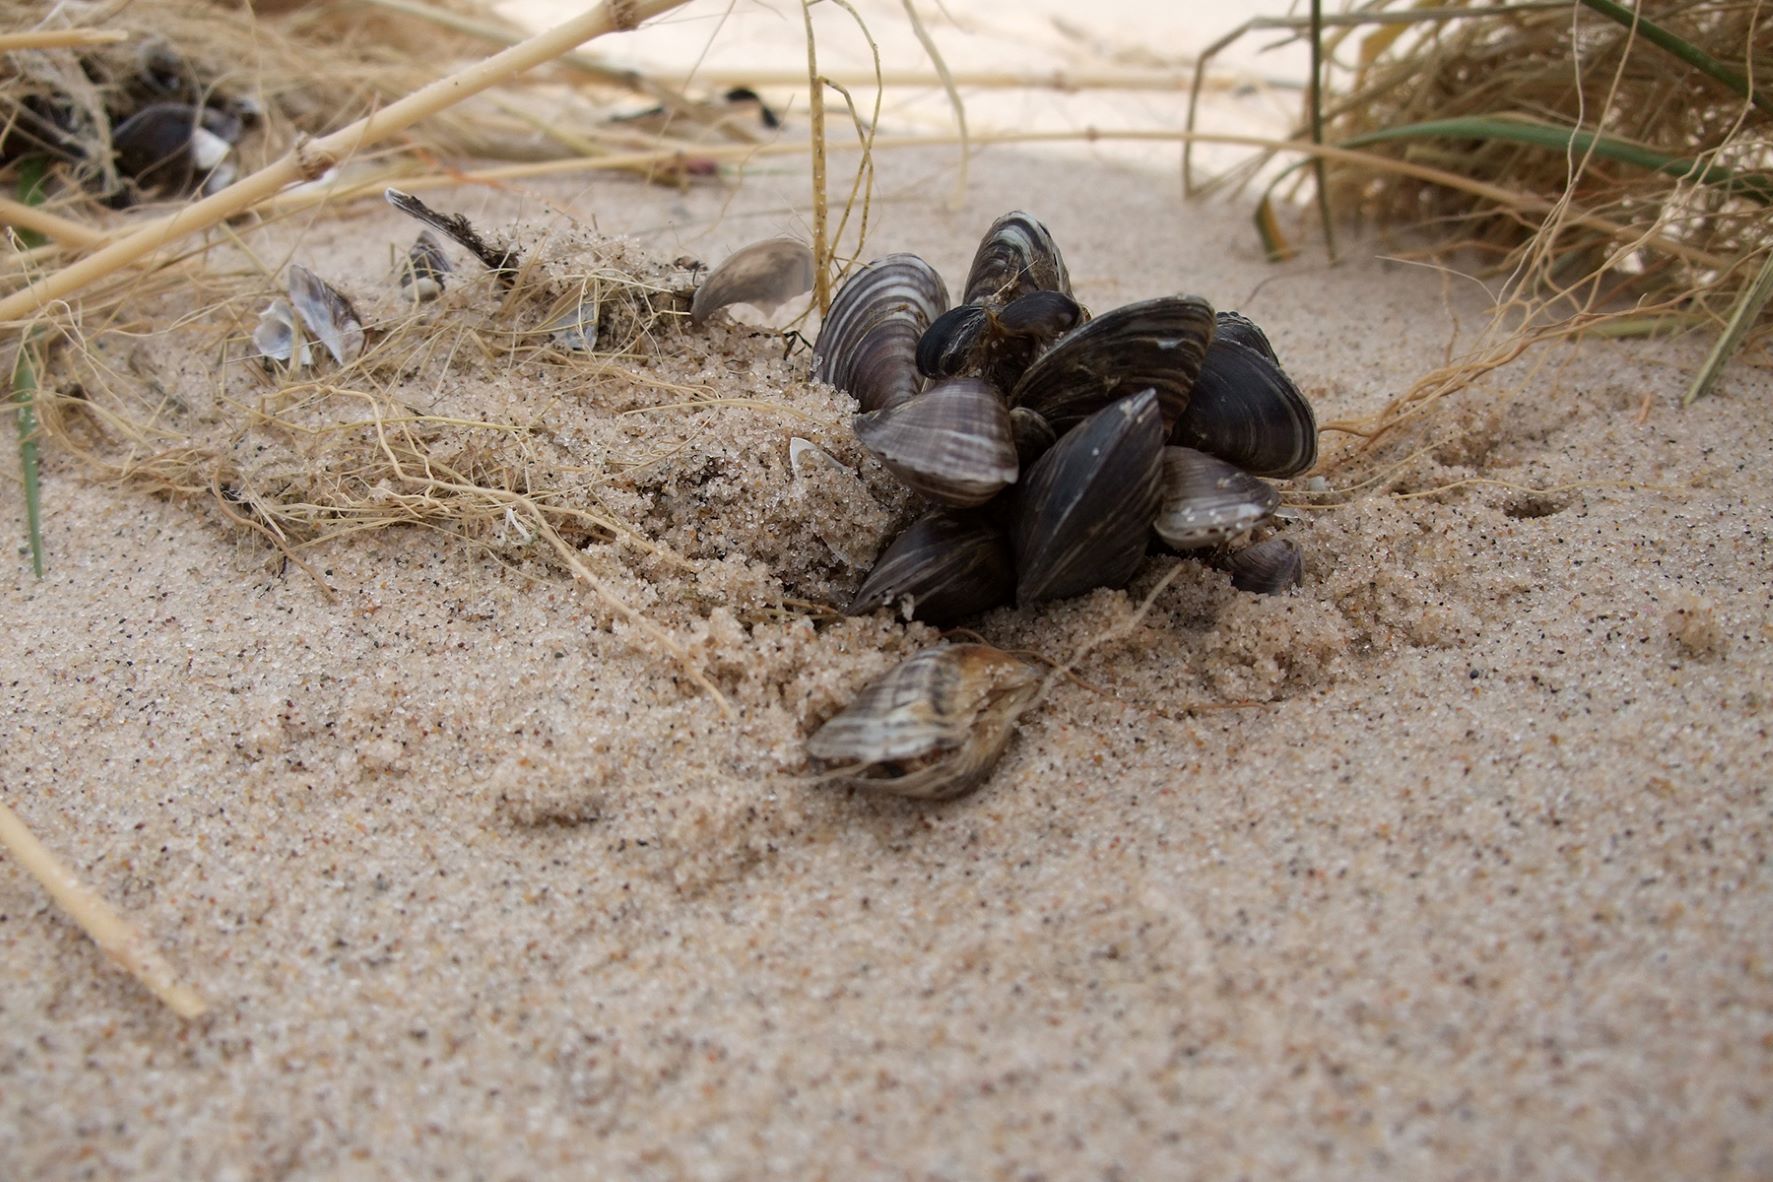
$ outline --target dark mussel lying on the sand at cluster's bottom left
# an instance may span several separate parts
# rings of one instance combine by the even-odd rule
[[[947,627],[1016,597],[1009,537],[977,514],[936,510],[881,551],[844,615],[910,604],[910,615]]]

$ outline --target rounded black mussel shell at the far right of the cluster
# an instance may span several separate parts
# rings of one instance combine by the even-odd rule
[[[1266,346],[1262,330],[1243,317],[1229,328],[1222,323],[1172,443],[1211,452],[1259,477],[1296,477],[1317,463],[1312,404]]]

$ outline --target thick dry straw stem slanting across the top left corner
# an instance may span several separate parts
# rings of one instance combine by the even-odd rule
[[[605,34],[622,32],[638,27],[642,21],[681,7],[688,0],[606,0],[596,9],[583,12],[548,32],[537,34],[521,44],[502,53],[495,53],[484,62],[477,62],[447,78],[440,78],[427,87],[406,96],[367,119],[335,131],[319,140],[296,144],[277,163],[261,168],[250,177],[236,181],[213,197],[158,222],[152,222],[135,234],[129,234],[94,255],[89,255],[69,268],[64,268],[25,291],[0,299],[0,323],[18,323],[41,314],[48,305],[66,299],[82,287],[94,284],[119,269],[129,266],[144,255],[151,255],[191,234],[209,229],[238,213],[245,213],[261,202],[275,197],[282,188],[298,181],[314,181],[337,163],[349,159],[356,152],[379,144],[388,136],[411,128],[422,119],[436,115],[463,99],[507,82],[543,62],[553,60],[576,44],[592,41]]]

